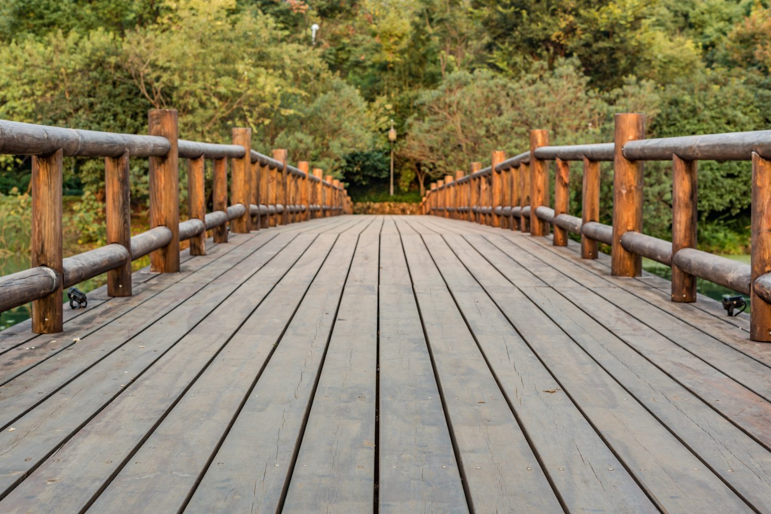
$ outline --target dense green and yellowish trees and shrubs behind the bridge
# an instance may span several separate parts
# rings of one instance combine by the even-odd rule
[[[0,118],[145,133],[148,109],[172,107],[184,138],[251,126],[255,148],[288,148],[355,199],[384,199],[389,119],[412,201],[493,149],[520,153],[530,128],[608,141],[628,111],[649,137],[771,127],[768,0],[5,0],[0,40]],[[131,167],[138,217],[146,166]],[[29,167],[0,159],[5,254],[28,250]],[[645,231],[659,237],[670,170],[646,164]],[[67,159],[65,183],[71,239],[98,244],[103,163]],[[608,222],[611,170],[602,183]],[[699,163],[700,247],[746,251],[749,188],[747,163]]]

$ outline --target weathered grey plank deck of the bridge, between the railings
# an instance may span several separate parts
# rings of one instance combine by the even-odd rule
[[[335,217],[0,333],[0,512],[771,512],[771,347],[575,245]]]

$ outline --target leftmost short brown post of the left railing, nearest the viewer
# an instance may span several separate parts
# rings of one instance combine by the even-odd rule
[[[32,156],[32,267],[45,266],[59,277],[59,287],[32,302],[32,331],[62,331],[64,267],[62,265],[62,150]]]

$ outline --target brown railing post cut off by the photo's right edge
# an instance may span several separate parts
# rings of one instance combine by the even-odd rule
[[[771,160],[752,153],[752,272],[749,338],[771,341],[771,304],[755,293],[755,280],[771,271]]]

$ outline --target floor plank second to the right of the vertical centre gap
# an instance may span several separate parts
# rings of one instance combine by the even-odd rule
[[[517,419],[417,233],[402,244],[475,512],[562,510]]]

